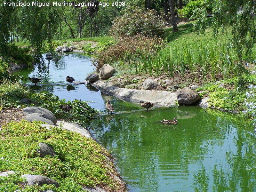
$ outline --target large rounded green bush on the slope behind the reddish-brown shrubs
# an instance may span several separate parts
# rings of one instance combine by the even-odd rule
[[[113,36],[164,36],[164,19],[156,10],[128,10],[112,22],[109,30]]]

